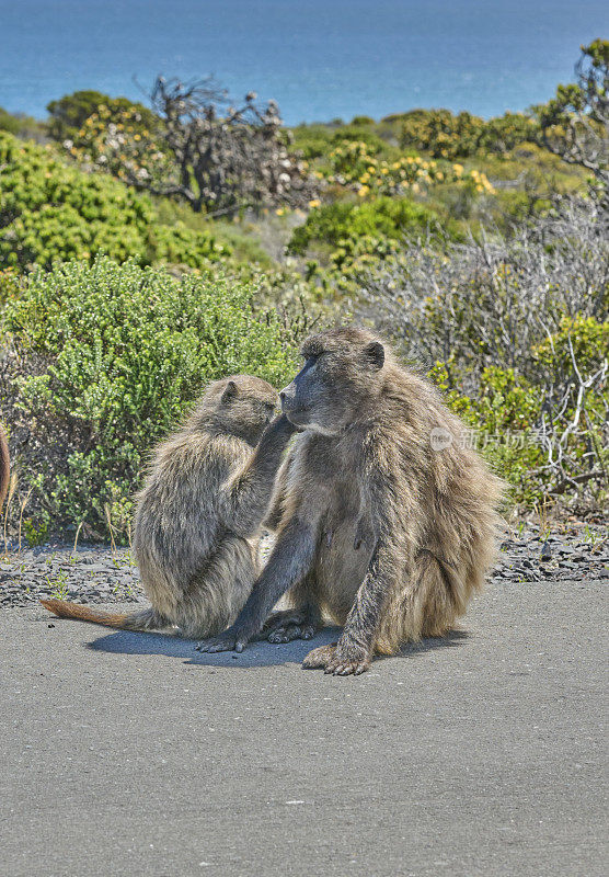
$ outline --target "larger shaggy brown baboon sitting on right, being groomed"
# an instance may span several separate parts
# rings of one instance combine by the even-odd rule
[[[303,431],[278,478],[274,550],[232,627],[197,648],[242,651],[289,591],[294,610],[271,617],[269,639],[310,638],[326,613],[342,636],[303,667],[358,674],[466,612],[494,557],[502,483],[375,335],[335,329],[302,354],[280,394]]]

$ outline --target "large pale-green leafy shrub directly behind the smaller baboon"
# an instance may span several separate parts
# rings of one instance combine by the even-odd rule
[[[177,282],[105,257],[30,275],[4,327],[23,363],[16,408],[47,453],[24,477],[55,526],[102,535],[112,522],[125,537],[148,449],[209,380],[248,372],[285,383],[289,332],[252,310],[255,294],[218,273]]]

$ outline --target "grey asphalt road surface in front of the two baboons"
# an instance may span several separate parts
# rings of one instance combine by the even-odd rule
[[[497,584],[357,679],[5,610],[0,870],[605,874],[605,605]]]

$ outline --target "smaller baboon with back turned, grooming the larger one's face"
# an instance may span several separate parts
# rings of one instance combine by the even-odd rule
[[[261,524],[296,430],[284,414],[271,422],[277,402],[260,378],[217,380],[157,447],[134,528],[150,608],[118,615],[59,600],[42,604],[65,618],[129,630],[176,625],[185,637],[223,630],[260,572]]]

